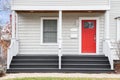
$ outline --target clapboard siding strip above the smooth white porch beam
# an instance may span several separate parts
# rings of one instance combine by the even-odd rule
[[[109,0],[12,0],[14,6],[93,6],[108,4]]]

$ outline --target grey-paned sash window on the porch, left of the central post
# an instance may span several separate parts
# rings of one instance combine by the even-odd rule
[[[42,43],[57,43],[57,19],[43,19],[42,27]]]

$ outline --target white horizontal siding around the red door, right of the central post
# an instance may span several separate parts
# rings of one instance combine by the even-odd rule
[[[79,17],[99,17],[99,53],[102,54],[102,42],[104,36],[104,13],[64,13],[63,14],[63,54],[79,53]],[[77,31],[71,32],[71,28],[77,28]],[[77,34],[78,38],[70,38],[71,33]],[[80,53],[79,53],[80,54]]]

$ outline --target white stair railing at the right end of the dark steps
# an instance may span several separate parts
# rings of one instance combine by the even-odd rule
[[[103,42],[103,53],[105,54],[105,56],[108,57],[111,69],[113,70],[114,69],[113,47],[110,43],[110,40],[106,40]]]

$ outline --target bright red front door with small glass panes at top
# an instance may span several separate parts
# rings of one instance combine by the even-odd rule
[[[96,20],[82,20],[82,53],[96,53]]]

